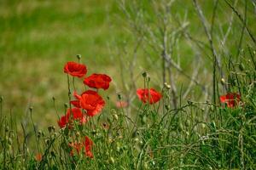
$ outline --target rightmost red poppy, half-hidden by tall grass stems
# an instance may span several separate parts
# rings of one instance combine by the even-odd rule
[[[221,103],[225,103],[228,107],[233,108],[238,105],[241,100],[241,96],[240,94],[230,93],[220,96],[219,99]]]

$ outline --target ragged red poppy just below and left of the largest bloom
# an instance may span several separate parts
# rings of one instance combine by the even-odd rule
[[[83,115],[82,111],[79,108],[73,108],[72,109],[72,118],[73,120],[79,121],[81,124],[87,122],[87,117]],[[71,124],[70,128],[72,127],[72,120],[71,118],[71,111],[70,109],[67,110],[67,114],[65,116],[61,116],[61,119],[58,121],[59,126],[66,127],[67,123],[69,122]]]

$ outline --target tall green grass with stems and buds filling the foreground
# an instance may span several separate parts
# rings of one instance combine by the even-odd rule
[[[230,80],[223,81],[230,90],[240,91],[241,103],[232,108],[188,101],[185,105],[179,102],[177,109],[172,109],[171,89],[166,84],[160,103],[139,104],[134,114],[137,118],[127,116],[123,107],[114,109],[108,105],[100,116],[84,125],[73,122],[72,129],[34,128],[30,134],[34,137],[30,138],[26,129],[23,134],[17,133],[14,117],[3,116],[1,98],[1,168],[253,169],[256,100],[255,71],[251,69],[255,65],[251,59],[245,61],[251,65],[234,65],[229,71]],[[149,77],[143,78],[149,87]],[[32,116],[31,123],[35,127]],[[93,158],[84,156],[84,152],[71,155],[70,142],[84,135],[94,143]],[[28,146],[28,138],[36,147]]]

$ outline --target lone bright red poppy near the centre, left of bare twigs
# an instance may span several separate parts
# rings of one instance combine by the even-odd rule
[[[154,90],[154,88],[139,88],[137,89],[137,96],[143,101],[143,103],[154,104],[161,99],[161,94]]]

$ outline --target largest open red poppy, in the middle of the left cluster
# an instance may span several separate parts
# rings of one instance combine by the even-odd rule
[[[95,91],[87,90],[81,96],[75,95],[79,99],[79,105],[87,111],[88,116],[95,116],[105,105],[105,101]]]

